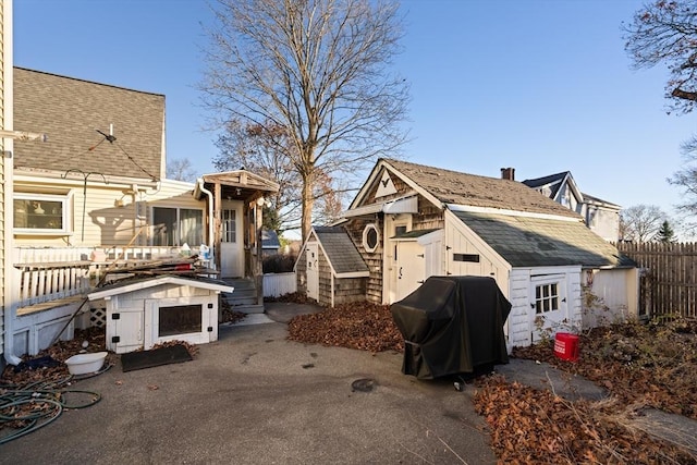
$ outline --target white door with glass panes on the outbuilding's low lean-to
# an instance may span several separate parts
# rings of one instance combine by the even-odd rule
[[[557,332],[568,332],[566,277],[545,274],[530,279],[530,326],[533,342]]]

